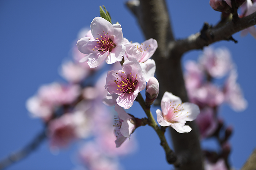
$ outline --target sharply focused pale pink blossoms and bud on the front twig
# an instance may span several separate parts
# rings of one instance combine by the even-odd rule
[[[159,84],[154,78],[155,62],[150,59],[157,49],[157,41],[149,39],[141,44],[130,43],[123,38],[121,25],[112,25],[101,17],[95,17],[92,21],[91,33],[93,37],[83,37],[77,43],[79,51],[86,54],[82,62],[87,61],[90,67],[97,67],[104,59],[108,64],[124,60],[121,70],[108,72],[105,85],[109,92],[108,98],[116,99],[116,103],[113,100],[110,103],[118,105],[116,111],[119,120],[114,126],[117,127],[115,134],[116,144],[119,147],[136,128],[136,122],[132,120],[132,117],[119,107],[130,108],[138,93],[146,86],[146,94],[150,98],[148,100],[155,99],[159,93]],[[148,82],[147,85],[146,82]],[[181,100],[171,93],[165,94],[161,102],[163,113],[157,110],[158,123],[161,126],[172,126],[180,133],[191,131],[185,123],[196,118],[199,108],[192,103],[181,103]],[[111,105],[108,103],[110,100],[105,101]],[[173,105],[169,106],[166,102]]]

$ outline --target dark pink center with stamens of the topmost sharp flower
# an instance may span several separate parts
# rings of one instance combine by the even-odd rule
[[[104,32],[104,31],[103,31]],[[98,34],[99,35],[99,34]],[[98,48],[98,51],[102,52],[111,52],[114,47],[116,47],[116,44],[113,43],[113,41],[109,38],[109,33],[107,34],[104,32],[104,35],[100,38],[96,38],[98,45],[93,48],[93,51],[95,51],[95,48]],[[96,50],[96,51],[97,51]]]

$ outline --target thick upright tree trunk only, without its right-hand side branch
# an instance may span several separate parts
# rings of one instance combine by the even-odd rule
[[[131,7],[131,4],[128,5]],[[157,65],[160,98],[163,92],[169,91],[179,96],[183,102],[188,101],[181,68],[181,55],[172,54],[172,51],[167,50],[168,44],[174,41],[174,37],[165,1],[141,0],[139,5],[133,5],[131,9],[137,16],[146,39],[154,38],[158,42],[158,49],[153,59]],[[180,134],[171,129],[174,151],[177,154],[175,165],[180,165],[181,170],[201,170],[199,133],[194,122],[188,124],[193,129],[190,133]]]

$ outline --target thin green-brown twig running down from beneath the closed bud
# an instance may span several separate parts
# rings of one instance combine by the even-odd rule
[[[159,126],[157,125],[157,122],[155,121],[155,119],[150,111],[150,106],[146,106],[146,103],[145,103],[142,95],[140,94],[140,92],[138,93],[136,100],[140,103],[140,106],[143,108],[143,110],[145,111],[145,113],[148,117],[148,125],[153,127],[153,129],[157,133],[157,135],[161,141],[160,145],[165,150],[167,162],[170,164],[175,163],[177,160],[177,157],[176,157],[175,153],[173,152],[173,150],[170,149],[170,147],[165,139],[164,131],[162,131],[159,128]]]

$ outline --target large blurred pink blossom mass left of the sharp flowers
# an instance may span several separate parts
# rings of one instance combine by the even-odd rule
[[[79,34],[90,36],[90,32],[87,29]],[[113,102],[106,98],[107,72],[101,66],[90,68],[87,63],[80,63],[84,56],[74,44],[73,60],[65,60],[59,68],[67,82],[44,84],[27,100],[26,107],[33,118],[41,118],[46,125],[49,148],[54,154],[74,142],[83,142],[77,154],[82,166],[90,170],[119,170],[117,157],[136,150],[136,137],[116,148],[113,112],[102,103]],[[111,66],[121,68],[120,63]],[[96,81],[91,80],[94,76]]]

